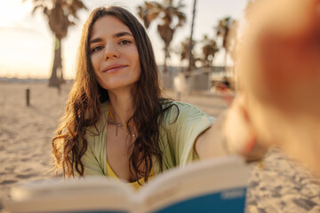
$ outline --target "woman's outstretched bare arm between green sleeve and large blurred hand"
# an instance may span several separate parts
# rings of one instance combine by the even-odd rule
[[[212,127],[196,138],[195,148],[200,159],[240,154],[246,161],[256,161],[266,153],[267,148],[256,143],[252,124],[242,103],[243,97],[237,97]]]

